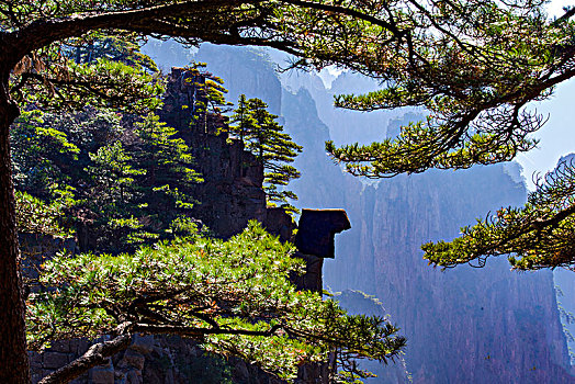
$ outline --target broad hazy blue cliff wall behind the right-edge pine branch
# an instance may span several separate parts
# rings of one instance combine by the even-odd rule
[[[326,282],[385,304],[409,340],[406,362],[415,383],[574,381],[564,370],[550,271],[519,274],[506,260],[489,260],[485,269],[441,272],[421,260],[421,242],[456,235],[472,221],[470,212],[509,204],[514,192],[500,169],[405,177],[365,188],[350,212],[361,229],[342,242],[345,268],[327,270]]]

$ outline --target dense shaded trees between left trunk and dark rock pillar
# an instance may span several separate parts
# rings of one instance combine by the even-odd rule
[[[171,237],[170,223],[195,202],[202,179],[177,135],[155,114],[32,111],[12,129],[15,185],[46,201],[71,193],[67,224],[90,231],[83,249],[133,250]]]

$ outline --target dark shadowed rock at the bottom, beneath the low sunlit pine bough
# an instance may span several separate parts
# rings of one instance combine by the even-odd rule
[[[83,354],[91,342],[75,339],[54,342],[43,353],[31,352],[32,383]],[[285,384],[240,359],[205,354],[180,337],[134,335],[131,346],[105,365],[95,366],[71,384]]]

